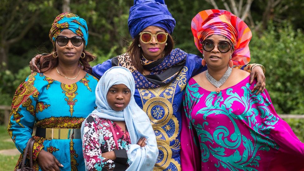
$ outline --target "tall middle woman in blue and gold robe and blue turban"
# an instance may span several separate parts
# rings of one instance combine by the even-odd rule
[[[173,49],[174,41],[170,34],[175,20],[163,0],[135,0],[128,26],[133,38],[128,52],[94,66],[93,74],[100,78],[112,66],[126,67],[131,71],[135,80],[135,101],[149,116],[156,135],[159,156],[154,170],[181,170],[183,91],[189,79],[207,67],[202,66],[199,56]],[[168,33],[166,42],[157,37],[163,32]],[[148,34],[151,35],[150,42],[144,42],[146,37],[143,36]],[[154,52],[146,50],[146,47],[164,49]],[[255,69],[264,79],[262,69]]]

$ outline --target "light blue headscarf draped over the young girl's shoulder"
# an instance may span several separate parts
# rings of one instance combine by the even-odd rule
[[[114,111],[107,103],[108,90],[112,85],[117,84],[125,84],[131,91],[129,105],[119,112]],[[127,170],[151,170],[158,156],[156,138],[147,114],[135,102],[134,92],[134,78],[128,69],[119,66],[108,69],[97,84],[95,90],[97,109],[91,114],[112,121],[125,121],[132,143],[127,151],[130,161]],[[85,121],[81,126],[82,138]],[[137,145],[141,137],[147,138],[147,145],[143,148]]]

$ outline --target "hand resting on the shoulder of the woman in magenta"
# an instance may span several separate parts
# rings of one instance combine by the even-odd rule
[[[263,72],[263,69],[261,67],[254,67],[251,70],[250,73],[250,84],[253,82],[254,78],[256,78],[257,83],[254,86],[253,90],[251,90],[251,93],[258,90],[255,94],[258,95],[259,93],[263,93],[266,88],[266,78]]]

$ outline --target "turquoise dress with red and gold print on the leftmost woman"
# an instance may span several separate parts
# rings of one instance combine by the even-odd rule
[[[32,73],[17,88],[12,101],[8,133],[23,153],[34,126],[41,128],[78,129],[95,105],[97,78],[86,74],[73,84],[60,83],[42,73]],[[35,170],[40,150],[52,153],[64,165],[63,170],[85,170],[81,139],[45,139],[34,136]],[[22,155],[18,163],[21,162]]]

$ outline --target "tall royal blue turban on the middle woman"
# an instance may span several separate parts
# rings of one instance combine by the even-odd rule
[[[158,26],[172,34],[175,20],[164,0],[134,0],[134,6],[130,8],[128,26],[132,38],[148,26]]]

